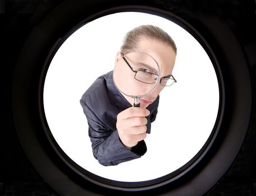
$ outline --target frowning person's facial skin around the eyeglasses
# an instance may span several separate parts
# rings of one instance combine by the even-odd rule
[[[160,78],[170,76],[171,73],[173,72],[176,54],[174,52],[174,49],[170,45],[167,45],[154,39],[141,38],[138,41],[136,51],[147,53],[156,60],[160,68]],[[135,56],[131,56],[131,58],[128,56],[128,58],[130,58],[127,59],[128,62],[131,62],[131,60],[133,59],[143,59],[140,61],[143,61],[151,65],[155,63],[153,62],[154,60],[150,58],[150,56],[145,55],[143,53],[138,53],[137,57],[136,54],[134,54]],[[122,91],[128,95],[143,95],[146,94],[148,91],[152,90],[152,85],[147,85],[145,83],[134,80],[135,73],[131,70],[131,68],[129,68],[127,63],[125,63],[121,57],[122,54],[118,52],[117,57],[115,59],[115,63],[118,63],[119,60],[122,60],[123,66],[122,68],[118,69],[116,66],[114,74],[114,80],[115,83],[118,84],[119,89],[122,89]],[[134,63],[131,63],[132,67],[134,67],[133,65]],[[157,69],[157,66],[153,68]],[[140,99],[139,102],[141,104],[141,107],[147,108],[148,105],[150,105],[153,101],[156,100],[157,96],[160,94],[163,88],[164,86],[160,85],[160,83],[157,83],[157,86],[154,91]],[[130,104],[133,105],[134,99],[128,96],[126,98],[130,102]]]

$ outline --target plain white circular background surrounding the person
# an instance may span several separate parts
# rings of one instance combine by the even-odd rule
[[[145,139],[147,153],[105,167],[92,155],[79,101],[97,77],[113,70],[125,33],[147,24],[174,39],[178,54],[173,75],[178,82],[160,94],[159,113]],[[210,136],[219,102],[216,73],[198,41],[165,18],[138,12],[99,18],[69,36],[50,63],[43,97],[46,120],[62,150],[84,169],[119,181],[159,178],[186,164]]]

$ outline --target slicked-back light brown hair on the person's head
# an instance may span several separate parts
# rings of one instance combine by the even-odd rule
[[[168,44],[174,49],[175,54],[177,53],[176,45],[171,36],[160,27],[153,25],[141,25],[128,31],[124,36],[123,44],[120,48],[121,52],[124,54],[132,52],[132,50],[136,49],[139,38],[142,37],[155,39]]]

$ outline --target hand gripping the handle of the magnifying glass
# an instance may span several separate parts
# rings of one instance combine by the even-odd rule
[[[122,143],[127,147],[136,146],[147,136],[147,119],[150,111],[145,108],[131,107],[117,115],[117,130]]]

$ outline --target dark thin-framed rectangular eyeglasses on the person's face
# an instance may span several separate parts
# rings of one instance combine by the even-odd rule
[[[123,55],[123,53],[122,53],[122,55]],[[129,64],[128,60],[124,56],[122,58],[124,59],[125,63],[127,63],[129,68],[131,68],[132,72],[135,73],[134,78],[137,81],[143,82],[143,83],[148,83],[148,84],[156,83],[156,81],[159,78],[158,74],[153,73],[150,69],[147,69],[147,68],[138,68],[137,70],[134,70],[133,67],[131,66],[131,64]],[[160,79],[160,85],[162,85],[162,86],[171,86],[175,82],[177,82],[177,81],[175,80],[173,75],[165,76]]]

